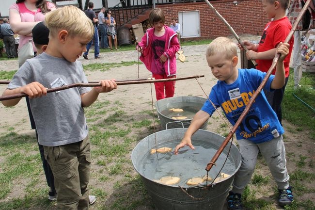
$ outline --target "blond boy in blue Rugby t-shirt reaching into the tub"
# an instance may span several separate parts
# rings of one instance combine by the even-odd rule
[[[270,76],[264,89],[272,91],[284,86],[284,59],[289,53],[288,48],[289,44],[279,44],[277,53],[281,53],[281,57],[276,66],[276,73]],[[256,69],[237,69],[237,46],[225,37],[218,37],[210,43],[206,51],[206,59],[212,74],[219,80],[209,95],[215,107],[209,100],[205,102],[202,109],[193,117],[183,140],[176,146],[175,154],[178,154],[178,149],[185,145],[194,149],[191,136],[219,107],[234,125],[266,75]],[[229,210],[242,210],[241,194],[252,178],[259,151],[278,185],[279,204],[284,206],[293,201],[286,170],[283,133],[284,129],[277,115],[262,91],[236,130],[242,164],[236,172],[233,189],[227,198]]]

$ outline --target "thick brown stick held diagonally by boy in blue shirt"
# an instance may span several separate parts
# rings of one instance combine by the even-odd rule
[[[299,21],[301,20],[302,16],[304,15],[306,9],[308,8],[309,4],[311,3],[311,0],[307,0],[307,2],[305,3],[303,9],[301,10],[299,16],[297,17],[296,21],[293,24],[293,27],[291,29],[291,31],[289,32],[289,34],[287,35],[286,39],[284,40],[284,43],[288,43],[290,41],[290,39],[293,36],[293,33],[295,32],[295,30],[298,27]],[[275,58],[272,61],[272,65],[270,66],[270,68],[268,69],[268,72],[264,78],[264,80],[261,82],[261,84],[259,85],[259,87],[257,88],[257,90],[255,91],[255,93],[252,95],[252,98],[249,100],[248,104],[246,105],[244,111],[242,112],[242,114],[239,116],[238,120],[236,121],[235,125],[233,126],[233,128],[231,129],[231,131],[229,132],[229,134],[227,135],[227,137],[224,139],[222,145],[220,146],[220,148],[218,149],[218,151],[216,152],[216,154],[213,156],[213,158],[211,159],[211,161],[207,164],[205,170],[206,171],[210,171],[210,169],[212,168],[212,166],[215,164],[215,162],[218,160],[220,154],[223,152],[223,149],[225,148],[225,146],[228,144],[228,142],[230,141],[230,139],[232,138],[233,134],[236,132],[236,129],[238,128],[238,126],[241,124],[241,122],[243,121],[244,117],[246,116],[246,114],[249,112],[252,103],[254,102],[254,100],[256,99],[256,97],[258,96],[258,94],[260,94],[260,92],[262,91],[262,89],[264,88],[266,82],[268,81],[273,69],[276,67],[278,60],[280,58],[280,54],[277,54],[275,56]],[[231,143],[232,144],[232,143]]]

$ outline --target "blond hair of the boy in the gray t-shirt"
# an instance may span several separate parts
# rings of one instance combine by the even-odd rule
[[[51,11],[45,16],[45,25],[49,29],[49,38],[60,30],[65,30],[70,36],[80,36],[91,40],[94,26],[90,18],[78,7],[64,6]]]

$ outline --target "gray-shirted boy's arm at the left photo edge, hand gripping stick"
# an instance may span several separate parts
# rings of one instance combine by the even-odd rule
[[[18,87],[15,89],[6,89],[2,96],[10,96],[13,94],[20,94],[24,93],[28,95],[30,98],[35,98],[35,97],[42,97],[46,96],[47,94],[47,89],[39,82],[35,81],[30,84],[24,85],[22,87]],[[11,107],[15,106],[19,101],[21,100],[20,98],[15,98],[11,100],[3,100],[1,101],[4,106]]]

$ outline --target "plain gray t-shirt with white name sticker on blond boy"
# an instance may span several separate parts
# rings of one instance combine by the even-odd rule
[[[8,89],[33,81],[38,81],[47,88],[88,82],[79,61],[72,63],[46,53],[26,60],[16,72]],[[79,142],[87,136],[88,128],[80,95],[90,90],[90,87],[75,87],[30,99],[40,145],[67,145]]]

